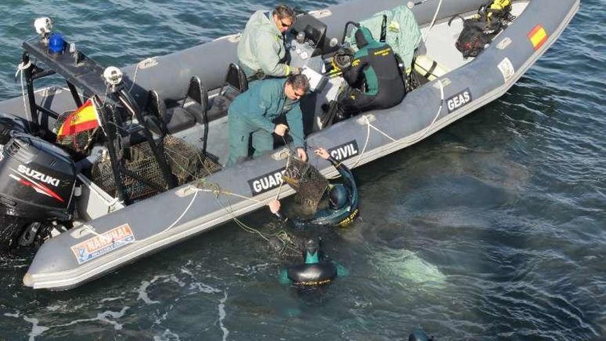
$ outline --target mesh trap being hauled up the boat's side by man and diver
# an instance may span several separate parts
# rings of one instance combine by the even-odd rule
[[[290,156],[282,178],[297,192],[299,200],[313,211],[317,209],[317,204],[320,203],[328,187],[328,180],[320,174],[320,171],[309,163]]]

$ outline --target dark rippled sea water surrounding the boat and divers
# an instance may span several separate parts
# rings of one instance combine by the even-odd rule
[[[0,99],[21,93],[14,71],[36,17],[103,65],[127,65],[237,32],[274,4],[3,0]],[[605,340],[604,23],[604,2],[583,1],[501,99],[355,169],[362,218],[324,234],[349,272],[331,287],[280,285],[281,260],[233,223],[70,291],[23,287],[25,253],[0,260],[0,339],[407,340],[422,328],[437,340]],[[264,209],[244,221],[275,228]]]

